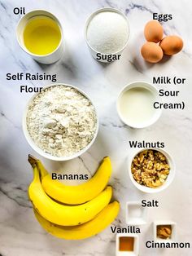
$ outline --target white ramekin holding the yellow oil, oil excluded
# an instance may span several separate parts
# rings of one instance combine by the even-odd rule
[[[59,45],[57,46],[55,51],[53,51],[47,55],[33,54],[32,52],[28,51],[28,49],[24,46],[24,37],[23,37],[24,28],[25,28],[26,24],[28,23],[28,20],[32,19],[33,17],[39,16],[39,15],[43,15],[43,16],[51,18],[52,20],[55,20],[55,22],[59,25],[59,29],[61,32],[61,40],[59,42]],[[63,49],[64,49],[64,47],[63,47],[63,29],[62,29],[62,26],[61,26],[59,20],[55,17],[55,15],[53,15],[49,11],[34,10],[34,11],[30,11],[26,15],[24,15],[19,20],[19,22],[17,24],[16,38],[17,38],[17,42],[19,43],[20,47],[25,52],[27,52],[28,55],[32,56],[33,60],[37,60],[37,62],[39,62],[41,64],[53,64],[56,61],[58,61],[63,55]]]

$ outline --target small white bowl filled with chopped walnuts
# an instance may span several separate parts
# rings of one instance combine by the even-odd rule
[[[145,148],[129,163],[129,176],[142,192],[155,193],[168,188],[175,176],[172,157],[159,148]]]

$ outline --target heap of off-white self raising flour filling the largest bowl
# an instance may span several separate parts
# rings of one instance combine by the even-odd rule
[[[93,104],[70,86],[51,86],[28,107],[28,133],[44,152],[68,157],[94,138],[97,116]]]

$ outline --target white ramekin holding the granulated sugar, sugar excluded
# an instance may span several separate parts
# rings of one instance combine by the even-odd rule
[[[103,53],[103,52],[98,52],[92,46],[90,46],[89,41],[87,39],[87,29],[88,29],[89,23],[94,18],[95,15],[98,15],[98,13],[103,12],[103,11],[113,11],[113,12],[116,12],[116,13],[122,15],[124,17],[124,19],[127,21],[128,29],[129,29],[129,21],[128,21],[127,17],[120,10],[118,10],[116,8],[107,8],[107,7],[101,8],[101,9],[98,9],[97,11],[94,11],[91,15],[89,15],[89,18],[85,23],[85,32],[84,32],[85,42],[87,43],[87,46],[89,47],[89,51],[90,51],[91,55],[94,57],[95,60],[97,60],[97,55],[98,54],[107,55],[107,56],[108,55],[116,55],[116,58],[118,58],[118,55],[122,54],[122,52],[124,51],[124,48],[127,46],[128,42],[129,42],[129,37],[128,37],[127,42],[124,44],[124,46],[119,51],[111,52],[111,53],[108,53],[108,54]],[[129,35],[130,35],[130,29],[129,29]],[[111,63],[114,60],[112,60],[111,62],[108,62],[107,60],[98,60],[98,61],[103,62],[103,63]]]

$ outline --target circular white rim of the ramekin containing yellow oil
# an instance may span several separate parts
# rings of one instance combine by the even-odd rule
[[[38,15],[35,15],[35,12],[37,11],[42,11],[44,12],[44,14],[38,14]],[[39,15],[45,15],[46,17],[49,17],[50,19],[53,19],[51,18],[49,15],[53,15],[55,21],[57,22],[57,24],[59,25],[59,30],[60,30],[60,33],[61,33],[61,39],[59,41],[59,45],[57,46],[57,48],[54,50],[54,51],[51,51],[50,53],[46,54],[46,55],[37,55],[37,54],[34,54],[33,52],[31,51],[28,51],[27,47],[24,46],[24,44],[22,44],[20,42],[20,34],[18,33],[18,28],[19,28],[19,25],[20,25],[20,22],[24,19],[27,19],[27,15],[30,15],[30,14],[33,14],[34,12],[34,15],[32,17],[30,17],[28,20],[30,20],[31,18],[35,17],[35,16],[39,16]],[[49,14],[49,15],[46,15]],[[62,24],[60,23],[59,19],[53,14],[51,13],[50,11],[46,11],[46,10],[43,10],[43,9],[34,9],[33,11],[28,11],[24,16],[22,16],[20,18],[20,20],[17,22],[17,25],[16,25],[16,29],[15,29],[15,33],[16,33],[16,39],[17,39],[17,42],[19,43],[21,49],[23,51],[25,51],[26,53],[28,53],[29,55],[32,55],[32,56],[35,56],[35,57],[47,57],[47,56],[50,56],[52,54],[55,53],[55,51],[57,51],[59,49],[59,47],[62,45],[63,43],[63,27],[62,27]]]

